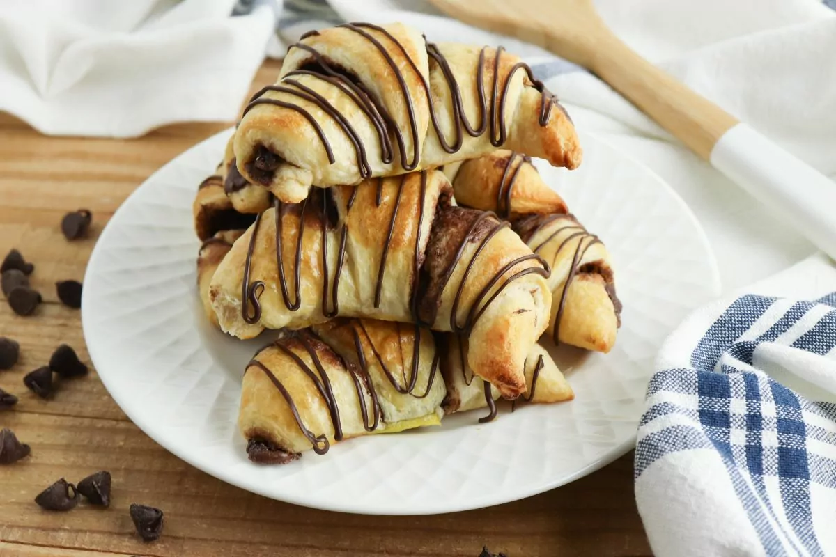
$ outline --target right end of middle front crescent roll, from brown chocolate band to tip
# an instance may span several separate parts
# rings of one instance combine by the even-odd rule
[[[422,321],[466,331],[477,375],[503,397],[525,392],[523,362],[548,326],[551,304],[543,265],[528,246],[495,217],[445,207],[436,212],[424,272]]]

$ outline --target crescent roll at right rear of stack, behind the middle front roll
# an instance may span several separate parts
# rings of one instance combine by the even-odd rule
[[[621,313],[609,252],[568,214],[563,199],[543,182],[531,160],[497,150],[446,166],[444,172],[451,176],[461,205],[492,210],[511,220],[528,247],[551,266],[548,330],[554,342],[609,352]]]

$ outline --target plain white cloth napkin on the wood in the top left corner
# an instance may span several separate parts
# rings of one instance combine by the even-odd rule
[[[6,0],[0,110],[44,134],[133,137],[231,121],[273,35],[268,6],[235,0]]]

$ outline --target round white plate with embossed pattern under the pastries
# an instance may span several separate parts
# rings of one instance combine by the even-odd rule
[[[538,494],[584,476],[635,442],[655,353],[686,313],[719,291],[714,256],[686,205],[656,175],[591,136],[584,165],[541,166],[614,258],[624,302],[607,355],[557,354],[571,403],[446,418],[441,428],[370,436],[264,467],[236,428],[243,367],[262,340],[214,330],[196,292],[191,202],[229,132],[151,176],[104,229],[84,277],[90,357],[116,403],[145,433],[230,484],[320,509],[431,514]]]

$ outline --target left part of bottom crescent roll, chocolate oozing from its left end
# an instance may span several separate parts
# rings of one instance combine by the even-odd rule
[[[284,332],[244,372],[238,427],[257,463],[288,463],[368,433],[441,423],[444,382],[427,329],[336,320]]]

